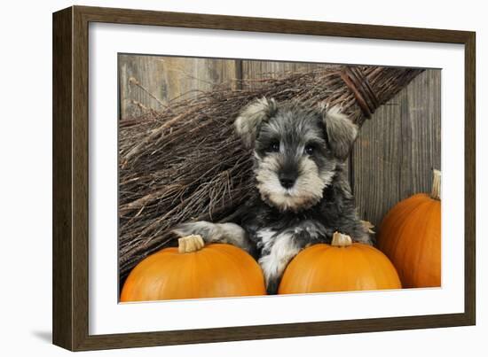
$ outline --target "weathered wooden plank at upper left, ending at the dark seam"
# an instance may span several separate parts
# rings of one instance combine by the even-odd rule
[[[236,61],[218,58],[119,55],[120,117],[161,110],[177,97],[235,85]]]

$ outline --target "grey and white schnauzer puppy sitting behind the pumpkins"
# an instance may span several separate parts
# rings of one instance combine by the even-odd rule
[[[268,293],[276,293],[287,264],[304,247],[329,243],[334,232],[372,244],[358,219],[344,160],[358,128],[337,108],[277,104],[261,98],[247,105],[235,129],[253,149],[256,190],[240,207],[240,224],[187,222],[178,236],[235,244],[255,256]]]

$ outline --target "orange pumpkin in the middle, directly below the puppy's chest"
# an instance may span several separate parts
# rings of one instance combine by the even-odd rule
[[[315,244],[288,264],[279,294],[400,289],[397,271],[380,251],[335,233],[332,244]]]

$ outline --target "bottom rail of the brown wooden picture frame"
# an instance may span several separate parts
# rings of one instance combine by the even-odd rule
[[[86,338],[83,345],[78,346],[76,351],[155,345],[200,344],[267,338],[299,338],[385,330],[432,329],[466,326],[468,324],[470,322],[466,319],[465,314],[437,314],[332,322],[281,323],[219,329],[91,335]]]

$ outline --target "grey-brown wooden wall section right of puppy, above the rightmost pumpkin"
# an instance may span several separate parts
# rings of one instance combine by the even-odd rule
[[[375,226],[400,200],[429,192],[441,169],[440,80],[440,70],[426,70],[361,129],[352,181],[361,218]]]

